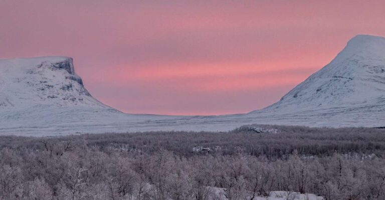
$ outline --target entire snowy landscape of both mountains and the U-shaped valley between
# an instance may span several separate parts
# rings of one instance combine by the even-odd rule
[[[385,126],[385,38],[358,35],[277,103],[247,114],[122,113],[93,98],[68,57],[0,60],[0,134],[227,131],[246,124]]]

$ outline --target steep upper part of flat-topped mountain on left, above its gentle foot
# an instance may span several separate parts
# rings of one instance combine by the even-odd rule
[[[0,60],[0,109],[84,105],[107,108],[75,74],[72,58]]]

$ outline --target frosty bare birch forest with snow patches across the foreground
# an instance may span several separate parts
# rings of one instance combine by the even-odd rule
[[[375,128],[0,136],[0,199],[384,199],[383,166]]]

